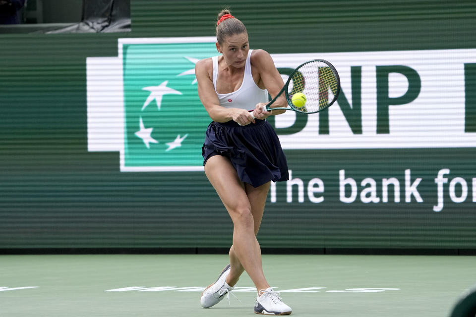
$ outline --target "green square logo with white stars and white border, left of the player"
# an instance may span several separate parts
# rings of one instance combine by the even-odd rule
[[[88,150],[119,151],[121,171],[203,170],[211,119],[195,63],[217,54],[215,42],[119,39],[117,57],[88,57]]]

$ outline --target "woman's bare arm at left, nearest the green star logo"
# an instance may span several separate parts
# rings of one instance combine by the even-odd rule
[[[212,59],[202,59],[195,64],[195,76],[198,82],[198,97],[203,106],[210,115],[210,118],[215,122],[227,122],[233,120],[240,125],[246,125],[250,122],[255,123],[251,114],[238,108],[225,108],[220,106],[213,81],[210,78],[208,72],[209,69],[213,69]]]

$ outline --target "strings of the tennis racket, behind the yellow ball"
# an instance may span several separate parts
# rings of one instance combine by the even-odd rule
[[[318,60],[311,61],[299,67],[292,78],[293,94],[303,93],[306,96],[304,106],[296,107],[303,112],[317,112],[329,105],[329,91],[332,99],[338,90],[338,80],[334,70],[326,63]]]

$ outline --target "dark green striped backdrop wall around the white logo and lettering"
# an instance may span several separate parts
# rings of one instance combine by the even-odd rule
[[[223,3],[131,0],[132,31],[128,33],[0,34],[0,249],[222,248],[231,244],[231,220],[203,172],[121,172],[119,152],[88,152],[87,137],[87,57],[118,56],[119,38],[214,36],[214,21]],[[476,48],[474,1],[245,0],[227,4],[247,26],[250,47],[272,54]],[[441,57],[442,63],[445,58]],[[468,95],[471,123],[475,68],[470,64],[475,62],[468,58],[466,86],[448,91],[455,98]],[[452,78],[434,80],[452,85]],[[344,96],[351,102],[349,87],[343,82]],[[361,103],[364,107],[365,96]],[[332,107],[344,104],[340,99]],[[445,124],[451,122],[442,120]],[[466,132],[475,130],[469,127]],[[315,133],[326,134],[324,130]],[[443,136],[436,133],[438,137]],[[325,200],[313,203],[304,195],[299,203],[299,185],[293,185],[293,202],[288,203],[286,183],[276,184],[276,201],[268,198],[258,235],[263,248],[476,248],[474,147],[285,152],[293,178],[301,179],[304,187],[312,178],[324,182]],[[435,212],[434,179],[443,168],[451,170],[443,187],[445,207]],[[421,178],[421,203],[414,196],[405,202],[407,169],[411,169],[411,182]],[[376,181],[379,196],[382,179],[397,178],[400,203],[392,195],[388,203],[363,203],[358,197],[352,204],[343,203],[340,170],[356,180],[359,194],[368,187],[360,185],[364,178]],[[461,203],[451,202],[448,194],[455,177],[465,179],[468,186],[467,199]],[[453,185],[455,195],[461,197],[462,187]]]

